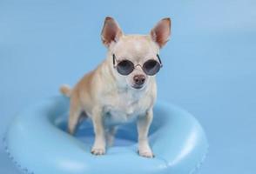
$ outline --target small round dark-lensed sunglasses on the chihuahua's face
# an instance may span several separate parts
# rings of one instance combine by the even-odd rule
[[[145,63],[142,66],[140,64],[137,64],[136,66],[140,66],[146,75],[154,76],[163,67],[163,64],[158,54],[157,54],[157,57],[159,62],[154,59],[149,59],[145,61]],[[118,70],[119,74],[124,76],[131,74],[131,72],[136,67],[130,60],[127,60],[127,59],[118,62],[117,65],[116,65],[116,62],[117,62],[116,56],[115,54],[113,54],[114,68]]]

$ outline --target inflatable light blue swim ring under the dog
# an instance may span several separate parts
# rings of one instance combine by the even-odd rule
[[[51,97],[17,114],[3,143],[20,171],[31,174],[191,174],[208,149],[205,132],[185,110],[158,102],[150,130],[156,157],[138,156],[136,125],[121,126],[104,156],[90,153],[93,131],[85,121],[75,137],[66,133],[69,99]]]

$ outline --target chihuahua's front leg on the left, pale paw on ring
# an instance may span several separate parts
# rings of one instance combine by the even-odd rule
[[[91,153],[94,155],[104,155],[105,153],[105,137],[102,110],[95,108],[92,110],[92,124],[95,133],[94,144]]]

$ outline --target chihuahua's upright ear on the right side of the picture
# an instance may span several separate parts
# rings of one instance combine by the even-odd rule
[[[169,40],[171,35],[171,19],[169,17],[163,18],[151,30],[152,40],[158,43],[159,48],[162,48]]]

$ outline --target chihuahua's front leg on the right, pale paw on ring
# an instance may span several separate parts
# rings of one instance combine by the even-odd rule
[[[152,109],[148,110],[145,116],[138,117],[138,154],[142,157],[154,157],[147,138],[150,125],[152,124],[152,118]]]

